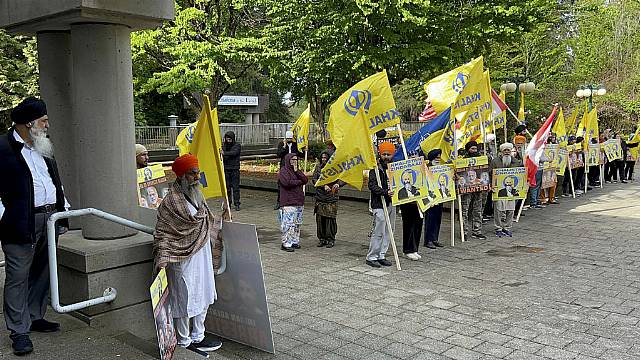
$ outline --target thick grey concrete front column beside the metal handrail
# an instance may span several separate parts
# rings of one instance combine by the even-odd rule
[[[79,144],[82,207],[136,219],[136,167],[131,30],[124,25],[71,25],[74,121]],[[87,239],[114,239],[134,230],[94,217],[82,220]]]

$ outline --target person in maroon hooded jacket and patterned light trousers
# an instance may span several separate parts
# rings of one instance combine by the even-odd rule
[[[307,176],[298,169],[298,156],[295,153],[285,155],[283,166],[278,173],[278,185],[280,188],[281,249],[287,252],[300,249],[300,225],[302,225],[302,211],[304,209],[304,190],[302,187],[307,181]]]

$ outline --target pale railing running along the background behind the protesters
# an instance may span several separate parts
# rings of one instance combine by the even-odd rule
[[[287,130],[291,128],[291,123],[264,123],[264,124],[220,124],[220,134],[224,136],[227,131],[233,131],[236,134],[236,141],[243,145],[267,145],[271,143],[271,139],[283,139]],[[402,129],[404,131],[417,131],[425,123],[420,122],[403,122]],[[178,134],[187,125],[178,126],[136,126],[135,137],[136,143],[144,145],[149,150],[175,149]],[[310,138],[320,138],[320,132],[317,124],[311,124],[309,130]],[[325,134],[328,136],[328,134]]]

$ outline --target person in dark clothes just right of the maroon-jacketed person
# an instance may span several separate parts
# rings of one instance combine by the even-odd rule
[[[316,183],[320,179],[322,168],[327,164],[331,157],[330,150],[325,150],[320,154],[319,162],[313,172],[312,183]],[[336,234],[338,233],[338,191],[344,186],[342,181],[335,181],[327,185],[316,187],[316,204],[313,212],[316,214],[316,227],[318,234],[318,247],[326,246],[332,248],[336,243]]]

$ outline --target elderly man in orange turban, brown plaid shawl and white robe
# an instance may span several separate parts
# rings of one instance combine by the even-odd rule
[[[195,156],[180,156],[172,170],[176,181],[158,208],[154,265],[156,271],[167,271],[178,345],[199,353],[214,351],[222,342],[205,339],[204,320],[217,298],[212,247],[222,219],[212,214],[202,195]]]

